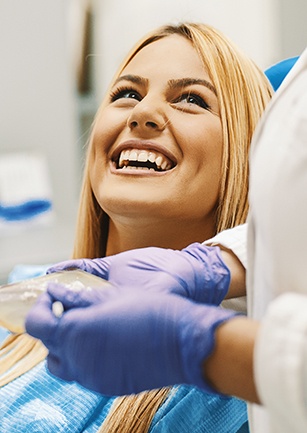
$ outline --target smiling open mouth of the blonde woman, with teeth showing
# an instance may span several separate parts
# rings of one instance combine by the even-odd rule
[[[150,170],[168,171],[175,163],[165,155],[152,150],[126,149],[123,150],[115,161],[117,170]]]

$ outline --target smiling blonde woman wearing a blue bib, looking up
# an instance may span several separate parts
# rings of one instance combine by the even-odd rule
[[[249,145],[270,97],[264,74],[210,26],[166,26],[146,36],[120,67],[93,125],[74,257],[181,249],[245,222]],[[25,346],[22,337],[18,347]],[[246,421],[242,402],[190,387],[98,396],[56,380],[44,364],[34,367],[46,356],[39,350],[29,348],[27,362],[15,358],[14,371],[3,375],[6,431],[28,426],[35,403],[49,428],[66,432],[236,432]]]

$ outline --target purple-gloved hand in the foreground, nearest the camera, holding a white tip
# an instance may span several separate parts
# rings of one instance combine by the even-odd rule
[[[62,317],[52,304],[64,305]],[[105,395],[124,395],[179,383],[215,392],[203,361],[218,325],[236,313],[170,293],[120,287],[67,291],[49,284],[27,316],[29,334],[49,349],[54,375]]]

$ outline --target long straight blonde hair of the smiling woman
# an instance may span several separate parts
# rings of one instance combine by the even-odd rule
[[[163,26],[145,36],[128,54],[114,80],[143,47],[173,34],[181,35],[192,43],[204,62],[217,92],[223,131],[222,176],[216,214],[216,232],[219,232],[246,220],[249,147],[256,124],[272,96],[272,88],[254,62],[221,32],[209,25],[197,23]],[[106,101],[107,99],[102,103],[102,107]],[[74,258],[103,257],[106,252],[108,216],[98,205],[91,188],[91,149],[90,139],[77,220]],[[28,345],[34,345],[31,340],[33,339],[29,340],[28,337]],[[32,351],[35,350],[37,349]],[[45,353],[41,353],[40,358],[44,356]],[[19,374],[32,368],[34,363],[37,363],[35,357],[28,365],[22,366],[22,371],[19,369]],[[16,374],[18,375],[15,371],[15,377]],[[116,432],[120,429],[121,432],[146,432],[157,408],[165,401],[168,393],[169,390],[165,388],[116,399],[99,431]]]

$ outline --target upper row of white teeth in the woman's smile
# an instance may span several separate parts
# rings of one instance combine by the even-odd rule
[[[151,162],[155,163],[157,168],[160,170],[169,170],[172,167],[171,161],[164,155],[158,152],[139,150],[139,149],[127,149],[123,150],[119,156],[118,166],[128,166],[129,161],[139,162]]]

